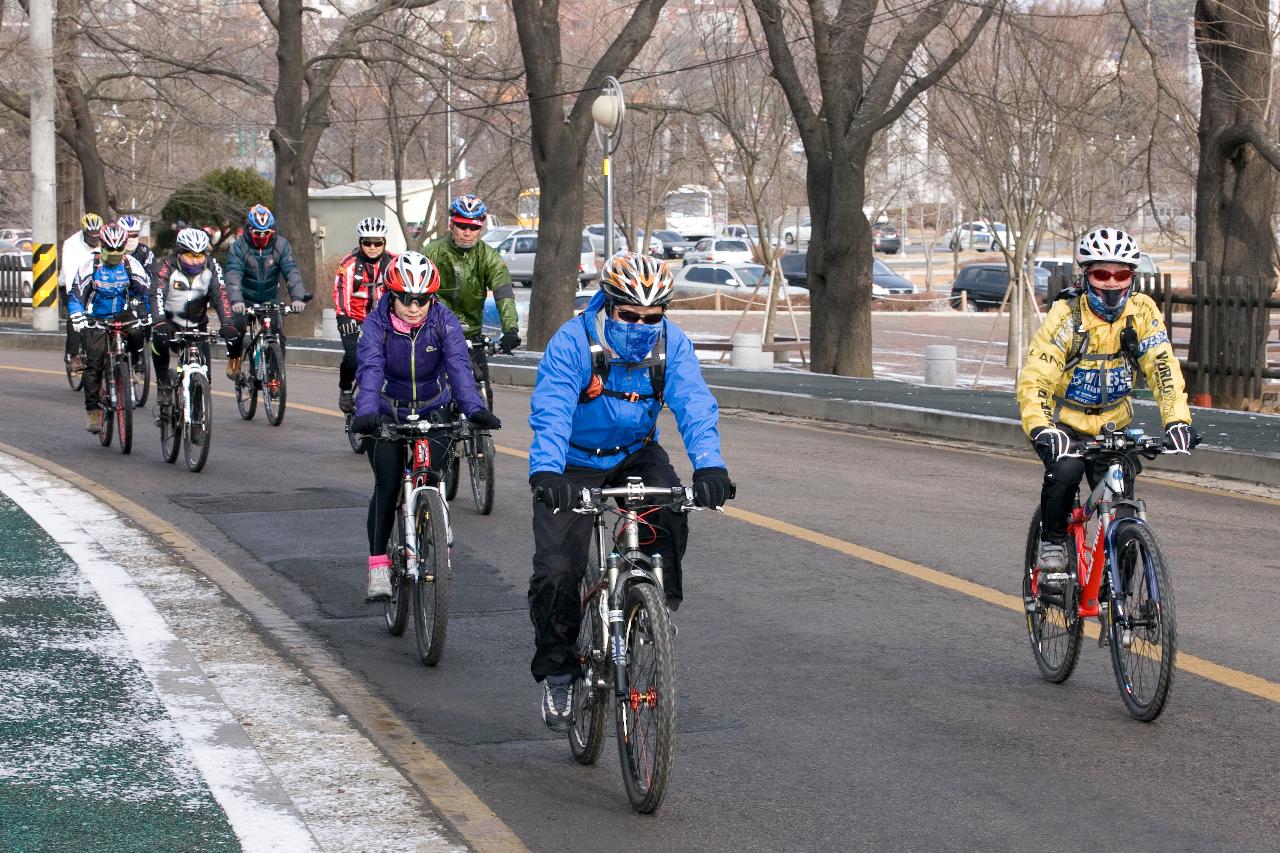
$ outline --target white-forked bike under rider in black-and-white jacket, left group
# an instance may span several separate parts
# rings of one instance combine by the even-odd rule
[[[173,464],[180,448],[187,470],[192,473],[205,467],[212,441],[214,397],[209,389],[209,360],[201,345],[216,337],[212,332],[195,329],[173,333],[174,343],[182,347],[177,382],[173,383],[173,398],[168,405],[161,402],[156,412],[164,461]]]

